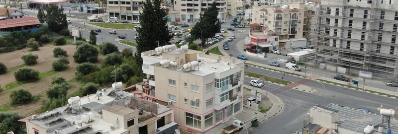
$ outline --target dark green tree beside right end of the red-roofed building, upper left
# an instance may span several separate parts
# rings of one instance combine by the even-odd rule
[[[51,5],[46,8],[46,22],[50,30],[59,32],[63,29],[68,29],[68,22],[66,21],[66,14],[64,8],[58,8],[57,5]]]

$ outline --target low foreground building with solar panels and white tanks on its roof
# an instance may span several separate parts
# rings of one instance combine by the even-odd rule
[[[172,117],[173,108],[108,88],[19,121],[27,134],[173,134]]]

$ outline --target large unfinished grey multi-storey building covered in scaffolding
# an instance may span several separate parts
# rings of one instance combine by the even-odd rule
[[[310,33],[310,45],[319,50],[312,59],[346,67],[348,73],[367,70],[396,78],[397,4],[398,0],[321,0]]]

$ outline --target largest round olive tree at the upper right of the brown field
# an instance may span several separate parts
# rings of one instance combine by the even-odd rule
[[[73,54],[73,59],[76,63],[95,63],[98,61],[98,49],[90,44],[82,44]]]

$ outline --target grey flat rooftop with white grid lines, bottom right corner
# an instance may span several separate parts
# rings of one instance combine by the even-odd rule
[[[382,116],[378,113],[363,112],[355,108],[349,108],[337,104],[330,104],[327,108],[335,109],[339,112],[337,124],[339,124],[340,128],[344,128],[346,130],[363,132],[365,127],[372,124],[375,127],[374,131],[377,131],[378,126],[382,123]],[[385,128],[383,132],[386,134],[387,124],[384,123],[383,126]],[[398,132],[398,121],[396,119],[391,119],[390,129],[393,133]]]

